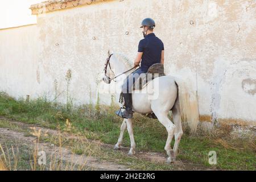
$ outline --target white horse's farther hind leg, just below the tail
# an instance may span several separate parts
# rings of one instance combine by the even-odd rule
[[[183,135],[182,126],[181,126],[181,113],[180,113],[180,106],[179,106],[179,100],[175,102],[174,108],[172,109],[172,115],[174,117],[174,124],[176,126],[175,128],[175,143],[174,143],[174,160],[177,156],[177,150],[179,147],[181,136]]]

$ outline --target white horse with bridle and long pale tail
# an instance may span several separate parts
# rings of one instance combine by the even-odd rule
[[[133,63],[126,59],[125,56],[118,53],[113,53],[110,55],[110,52],[108,52],[108,59],[105,63],[105,76],[103,77],[103,81],[106,84],[110,84],[110,82],[115,79],[116,84],[121,85],[124,78],[128,75],[128,73],[124,72],[131,68],[133,68]],[[154,82],[156,81],[158,82],[159,88],[155,88],[153,86]],[[152,96],[152,93],[155,93],[156,90],[158,92],[158,98],[151,99],[148,93],[150,93]],[[166,127],[168,137],[164,150],[166,150],[168,155],[167,163],[172,163],[176,159],[180,139],[183,135],[181,118],[188,123],[192,133],[197,129],[199,114],[195,94],[188,92],[188,89],[185,88],[184,82],[172,76],[157,77],[148,82],[148,84],[144,86],[141,91],[142,92],[132,94],[133,111],[141,114],[154,112],[159,122]],[[172,123],[168,118],[168,113],[170,110],[172,111],[174,123]],[[126,128],[128,130],[131,142],[131,148],[128,155],[135,155],[133,119],[123,119],[121,133],[117,144],[114,146],[114,149],[118,150],[121,148],[123,133]],[[172,150],[171,141],[174,136],[175,143]]]

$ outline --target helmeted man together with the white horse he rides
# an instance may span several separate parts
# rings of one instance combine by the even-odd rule
[[[112,86],[122,83],[123,97],[120,97],[119,102],[122,98],[125,99],[124,105],[126,110],[122,112],[119,109],[115,112],[125,119],[123,119],[120,127],[120,135],[114,149],[118,150],[121,148],[123,134],[127,129],[131,141],[128,155],[135,155],[136,144],[133,135],[133,111],[139,114],[153,113],[155,118],[166,127],[168,137],[164,150],[166,150],[168,155],[167,163],[172,163],[176,159],[181,136],[183,135],[181,118],[188,124],[191,133],[195,133],[197,129],[199,111],[196,92],[191,89],[192,86],[189,86],[189,83],[184,79],[164,75],[164,46],[162,41],[153,32],[155,27],[154,20],[150,18],[144,19],[141,27],[143,28],[144,39],[139,42],[138,55],[134,61],[134,67],[125,56],[120,56],[118,53],[110,54],[108,52],[108,58],[105,62],[105,76],[102,80],[106,84],[110,84],[112,80],[115,81],[116,83]],[[131,75],[127,75],[128,72],[138,67],[140,63],[140,68],[131,73]],[[156,77],[154,75],[154,80],[148,81],[148,76],[151,77],[155,73]],[[127,76],[124,82],[119,77],[121,75]],[[141,80],[143,81],[145,76],[148,82],[145,85],[142,84],[142,88],[137,89],[136,86],[138,83],[140,85]],[[117,77],[119,79],[115,80]],[[137,81],[135,82],[135,80]],[[139,92],[133,92],[134,89],[139,90]],[[168,117],[170,110],[173,121]],[[173,138],[175,139],[175,143],[172,148],[171,142]]]

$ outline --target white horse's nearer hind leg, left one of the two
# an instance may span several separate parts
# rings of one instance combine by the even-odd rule
[[[154,111],[160,123],[162,123],[162,125],[166,127],[166,130],[168,132],[168,137],[166,140],[166,146],[164,147],[164,150],[166,150],[167,155],[169,156],[167,159],[167,163],[172,163],[174,162],[174,151],[171,148],[171,142],[172,138],[174,137],[175,125],[168,118],[168,111],[160,112],[158,111],[159,109],[155,111],[153,108],[152,110]]]

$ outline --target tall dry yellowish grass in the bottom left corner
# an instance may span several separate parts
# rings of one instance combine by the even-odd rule
[[[69,125],[68,125],[69,126]],[[66,148],[63,148],[65,144],[65,138],[63,135],[58,132],[58,135],[54,136],[57,147],[46,146],[46,143],[41,143],[40,140],[49,137],[46,132],[43,132],[41,129],[36,129],[35,127],[31,128],[31,135],[36,137],[33,141],[34,144],[31,144],[30,149],[30,160],[27,162],[29,165],[26,168],[20,168],[19,162],[21,162],[20,156],[22,156],[22,150],[19,150],[19,146],[16,148],[13,145],[8,146],[5,144],[2,146],[0,143],[0,171],[10,170],[16,171],[20,169],[31,170],[31,171],[81,171],[89,169],[86,167],[88,156],[79,155],[79,158],[75,153],[70,153]],[[85,138],[79,138],[80,143],[85,140]],[[20,141],[19,141],[20,143]],[[83,146],[86,148],[86,146]],[[90,147],[90,146],[88,146]],[[91,147],[90,147],[91,148]],[[39,152],[45,151],[47,155],[46,164],[39,164]],[[24,151],[28,152],[28,151]]]

